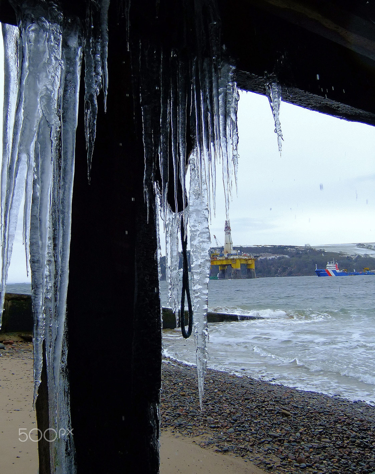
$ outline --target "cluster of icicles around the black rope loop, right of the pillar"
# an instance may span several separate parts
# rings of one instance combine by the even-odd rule
[[[209,214],[210,203],[215,202],[216,188],[216,169],[221,165],[220,174],[224,182],[224,193],[226,201],[226,210],[228,215],[229,196],[232,188],[232,175],[237,181],[238,167],[238,131],[237,131],[237,107],[238,107],[238,89],[233,80],[234,68],[228,64],[223,64],[220,74],[215,73],[213,68],[206,68],[205,74],[210,77],[204,77],[205,84],[210,84],[207,94],[203,94],[200,89],[191,89],[190,102],[193,113],[193,137],[194,147],[189,156],[190,166],[190,185],[188,206],[185,208],[183,201],[183,210],[173,212],[167,202],[168,191],[168,162],[161,153],[159,155],[160,168],[162,170],[162,189],[159,194],[161,214],[165,225],[165,269],[167,282],[168,303],[176,317],[176,326],[178,325],[179,315],[179,253],[178,253],[178,232],[181,219],[186,225],[189,222],[190,228],[190,250],[191,250],[191,275],[192,275],[192,306],[193,306],[193,331],[196,346],[196,362],[198,370],[198,388],[199,398],[202,407],[202,396],[204,386],[204,374],[207,365],[207,343],[209,339],[207,327],[207,309],[208,309],[208,282],[210,275],[210,231]],[[176,94],[176,95],[174,95]],[[169,130],[169,117],[173,115],[173,104],[177,105],[176,115],[186,117],[186,99],[177,95],[178,90],[169,91],[166,104],[162,103],[162,108],[167,107],[165,117],[167,120],[162,122],[162,136],[168,136],[173,130]],[[182,110],[182,108],[184,108]],[[145,114],[144,114],[145,116]],[[172,120],[173,124],[173,120]],[[148,127],[144,123],[144,129]],[[172,150],[181,150],[179,139],[185,130],[177,129],[175,134],[176,142],[172,142]],[[183,139],[186,139],[183,137]],[[181,143],[181,141],[180,141]],[[175,183],[177,182],[177,171],[182,170],[183,177],[180,178],[182,195],[185,195],[185,167],[183,165],[185,156],[175,153],[173,155]],[[147,159],[145,159],[147,163]],[[165,173],[163,174],[163,169]],[[174,184],[174,201],[177,208],[177,185]]]

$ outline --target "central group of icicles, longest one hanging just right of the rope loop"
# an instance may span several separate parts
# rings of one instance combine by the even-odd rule
[[[171,207],[183,212],[185,202],[181,205],[178,192],[185,195],[186,173],[186,122],[190,114],[194,154],[190,158],[191,190],[190,203],[186,210],[190,213],[192,259],[195,259],[195,284],[192,287],[194,303],[194,335],[197,345],[197,367],[200,386],[200,401],[203,395],[203,379],[206,371],[208,329],[207,315],[207,282],[210,272],[210,233],[208,218],[210,202],[214,203],[216,191],[216,170],[218,162],[222,164],[222,178],[226,202],[226,213],[229,219],[229,197],[232,194],[232,177],[234,174],[237,186],[238,168],[238,88],[234,81],[235,68],[227,63],[221,64],[220,74],[209,59],[192,60],[189,68],[178,60],[174,53],[164,52],[160,56],[160,84],[153,90],[160,89],[160,119],[155,117],[149,106],[147,82],[150,70],[150,58],[140,50],[140,64],[147,59],[148,70],[141,75],[141,105],[143,119],[143,140],[145,147],[145,192],[150,180],[150,159],[155,147],[155,137],[159,137],[159,170],[162,215],[166,232],[166,281],[168,303],[174,314],[178,314],[178,273],[177,273],[177,233],[178,219]],[[156,57],[156,56],[155,56]],[[155,64],[153,70],[156,70]],[[189,84],[189,86],[187,85]],[[190,109],[190,110],[189,110]],[[173,182],[172,182],[173,180]],[[169,190],[174,189],[174,195]],[[177,191],[179,188],[180,191]],[[193,191],[192,191],[193,189]],[[199,195],[199,197],[198,197]],[[167,198],[170,200],[167,203]],[[173,201],[172,201],[173,200]],[[172,202],[171,202],[172,201]],[[146,196],[146,202],[148,198]],[[214,207],[214,205],[213,205]],[[193,210],[193,214],[191,211]],[[188,219],[185,219],[187,222]],[[194,273],[195,272],[195,273]],[[176,322],[177,317],[176,317]]]

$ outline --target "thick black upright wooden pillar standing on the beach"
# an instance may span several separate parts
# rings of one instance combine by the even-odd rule
[[[107,113],[101,95],[90,184],[83,93],[77,130],[67,321],[79,474],[159,469],[155,200],[147,213],[142,117],[117,8],[111,2]]]

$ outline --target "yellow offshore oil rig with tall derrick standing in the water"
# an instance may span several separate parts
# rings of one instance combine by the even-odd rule
[[[210,250],[210,279],[256,278],[255,261],[257,255],[233,250],[229,220],[225,221],[224,232],[224,246],[220,246],[216,236],[213,236],[217,246]]]

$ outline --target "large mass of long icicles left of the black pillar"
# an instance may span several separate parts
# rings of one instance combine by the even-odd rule
[[[94,4],[92,4],[94,5]],[[34,404],[41,381],[43,346],[49,427],[66,434],[51,449],[51,465],[74,473],[73,438],[66,377],[65,313],[71,231],[75,132],[85,49],[85,123],[89,170],[95,138],[96,98],[107,89],[109,1],[89,9],[100,27],[45,18],[3,24],[4,106],[1,163],[1,302],[18,220],[24,201],[23,234],[30,264],[34,313]],[[95,5],[94,5],[95,6]],[[29,18],[27,15],[25,18]],[[0,316],[1,317],[1,316]],[[1,324],[1,320],[0,320]],[[54,471],[55,472],[55,471]],[[57,472],[57,471],[56,471]]]

